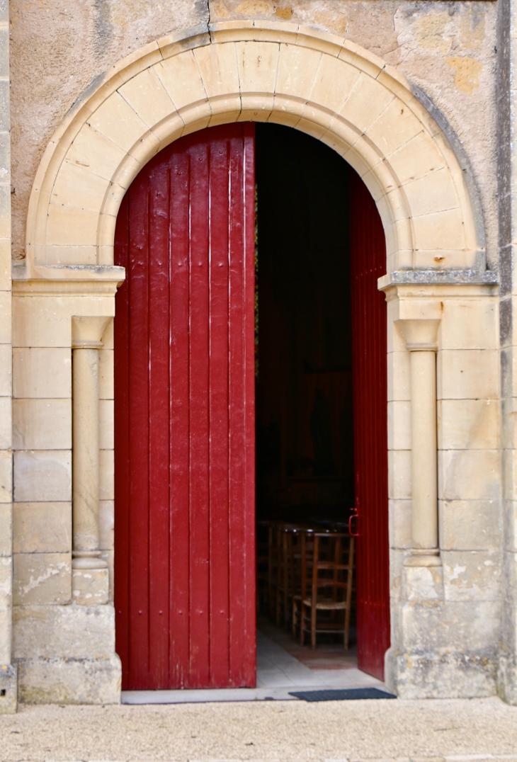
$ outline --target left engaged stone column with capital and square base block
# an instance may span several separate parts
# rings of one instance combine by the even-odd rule
[[[98,351],[106,317],[72,318],[72,600],[108,603],[99,550]]]

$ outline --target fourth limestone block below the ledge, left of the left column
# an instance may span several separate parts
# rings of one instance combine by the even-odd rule
[[[72,499],[71,450],[14,453],[14,500],[19,503]]]

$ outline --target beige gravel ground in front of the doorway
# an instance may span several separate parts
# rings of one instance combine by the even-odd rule
[[[516,760],[499,699],[25,706],[0,716],[11,760]]]

